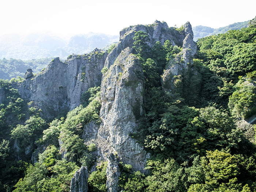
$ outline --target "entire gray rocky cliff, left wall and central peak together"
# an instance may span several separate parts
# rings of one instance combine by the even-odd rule
[[[130,133],[136,133],[138,119],[144,114],[143,68],[132,50],[136,31],[148,34],[150,41],[147,43],[150,47],[157,41],[163,45],[166,40],[172,46],[182,47],[182,52],[165,69],[162,76],[164,89],[172,92],[175,87],[174,76],[181,75],[184,69],[189,69],[196,75],[192,66],[197,48],[193,42],[190,23],[185,23],[184,29],[178,31],[173,27],[169,28],[165,22],[156,21],[152,25],[123,29],[119,43],[109,54],[95,49],[82,56],[69,56],[64,62],[56,58],[38,75],[33,75],[29,69],[25,80],[15,84],[22,98],[28,102],[33,101],[33,106],[41,109],[45,118],[54,117],[63,110],[74,109],[80,105],[80,97],[84,91],[101,86],[102,123],[99,126],[94,122],[86,124],[83,140],[86,144],[96,144],[98,159],[108,160],[108,191],[117,191],[116,175],[119,174],[118,163],[110,154],[115,154],[120,161],[132,165],[133,170],[142,172],[150,157],[143,146],[129,136]],[[102,75],[103,67],[106,72]]]

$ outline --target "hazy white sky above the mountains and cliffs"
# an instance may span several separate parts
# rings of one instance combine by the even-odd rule
[[[40,31],[114,35],[130,25],[155,20],[169,27],[189,21],[192,26],[219,28],[253,19],[255,7],[255,0],[4,0],[0,35]]]

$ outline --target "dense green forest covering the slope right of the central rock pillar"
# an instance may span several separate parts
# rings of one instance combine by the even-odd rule
[[[120,177],[124,191],[256,190],[254,137],[247,134],[253,126],[239,123],[256,113],[255,32],[248,27],[199,39],[193,60],[199,75],[193,79],[187,70],[174,77],[175,93],[162,90],[159,82],[175,57],[174,48],[167,49],[168,42],[148,48],[147,34],[135,34],[134,48],[144,68],[146,114],[131,136],[152,157],[146,167],[149,175],[130,171]],[[200,89],[192,87],[198,84],[195,80]]]

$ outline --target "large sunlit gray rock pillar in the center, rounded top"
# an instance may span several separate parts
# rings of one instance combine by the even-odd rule
[[[136,132],[136,119],[143,114],[143,78],[138,59],[126,48],[102,77],[102,123],[95,141],[101,153],[117,153],[124,163],[142,171],[146,151],[129,133]]]

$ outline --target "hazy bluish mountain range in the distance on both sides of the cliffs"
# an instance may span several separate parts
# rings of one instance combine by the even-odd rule
[[[247,27],[249,22],[233,23],[218,29],[195,26],[192,27],[193,40],[241,29]],[[23,77],[27,68],[38,73],[55,57],[65,60],[71,54],[85,54],[95,48],[108,49],[118,41],[119,35],[92,32],[74,35],[68,39],[46,32],[3,35],[0,37],[0,79]]]

